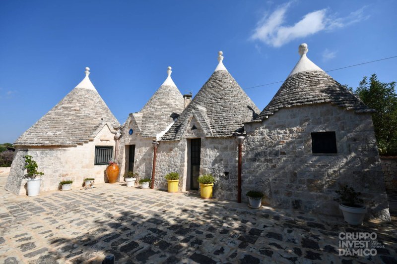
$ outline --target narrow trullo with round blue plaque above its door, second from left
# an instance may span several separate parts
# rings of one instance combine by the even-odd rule
[[[171,72],[171,67],[168,67],[168,77],[164,83],[139,112],[130,113],[122,126],[118,163],[124,173],[133,171],[138,174],[138,178],[151,177],[154,151],[152,143],[160,140],[185,109],[185,104],[190,102],[191,96],[182,96],[171,78]],[[159,150],[162,149],[163,145],[159,146]],[[157,167],[160,172],[162,160],[159,161]],[[120,174],[120,181],[123,181],[124,173]],[[160,187],[163,186],[156,184],[156,188]]]

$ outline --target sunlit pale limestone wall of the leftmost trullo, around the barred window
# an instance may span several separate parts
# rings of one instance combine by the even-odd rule
[[[95,178],[96,183],[107,181],[107,165],[94,165],[95,146],[113,146],[114,134],[105,125],[88,143],[76,147],[17,147],[5,189],[17,195],[26,194],[24,175],[25,155],[30,155],[44,172],[40,191],[58,190],[62,180],[73,180],[72,188],[80,188],[84,178]]]

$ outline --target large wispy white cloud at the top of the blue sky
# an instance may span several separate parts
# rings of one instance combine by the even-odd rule
[[[285,25],[286,13],[293,1],[278,6],[271,14],[265,14],[251,36],[253,40],[260,40],[273,47],[282,45],[299,38],[304,38],[324,30],[342,28],[369,16],[364,15],[364,7],[351,12],[346,17],[336,17],[329,14],[327,8],[307,13],[293,25]]]

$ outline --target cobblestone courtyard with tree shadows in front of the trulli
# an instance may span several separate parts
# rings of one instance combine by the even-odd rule
[[[98,184],[38,197],[4,191],[0,263],[397,263],[396,218],[352,227],[341,218],[194,195]],[[375,257],[339,257],[339,232],[376,232]]]

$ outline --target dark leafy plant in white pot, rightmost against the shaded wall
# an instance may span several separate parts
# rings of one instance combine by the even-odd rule
[[[352,187],[345,185],[338,191],[338,198],[333,199],[339,203],[339,209],[343,212],[346,222],[351,225],[362,225],[367,209],[362,205],[363,200],[359,198],[360,192],[355,192]]]

